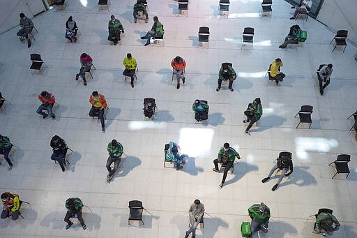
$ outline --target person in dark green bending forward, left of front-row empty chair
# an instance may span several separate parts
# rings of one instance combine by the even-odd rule
[[[64,217],[64,221],[68,223],[66,225],[66,229],[70,228],[70,226],[73,225],[73,222],[70,221],[70,218],[75,217],[78,218],[78,221],[81,223],[83,230],[86,230],[86,224],[84,224],[84,220],[82,217],[82,207],[83,203],[82,200],[80,200],[79,198],[68,198],[68,200],[66,200],[67,213]]]

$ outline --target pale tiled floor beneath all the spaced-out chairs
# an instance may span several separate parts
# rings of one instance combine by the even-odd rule
[[[87,3],[88,2],[88,3]],[[334,237],[357,237],[357,147],[349,131],[356,111],[356,48],[346,52],[329,45],[334,34],[312,18],[291,21],[288,3],[275,0],[272,17],[258,13],[261,1],[231,1],[229,17],[218,16],[218,1],[192,0],[189,17],[177,16],[177,2],[149,1],[150,22],[133,23],[135,1],[114,1],[110,13],[98,12],[96,1],[68,1],[66,10],[49,10],[33,18],[39,33],[31,48],[17,40],[18,27],[0,35],[0,85],[11,103],[0,114],[0,133],[21,149],[13,149],[13,171],[6,161],[0,166],[1,191],[13,191],[31,202],[24,204],[24,220],[0,221],[1,237],[184,237],[188,207],[199,198],[206,207],[204,228],[197,237],[240,237],[240,224],[249,221],[248,207],[265,202],[271,208],[268,234],[260,237],[319,237],[312,234],[315,214],[321,207],[333,209],[342,223]],[[86,5],[87,4],[87,5]],[[85,6],[86,5],[86,6]],[[17,14],[17,13],[14,13]],[[109,45],[107,22],[116,15],[123,23],[122,45]],[[68,43],[65,22],[72,15],[79,27],[79,42]],[[139,39],[158,15],[165,25],[165,47],[144,47]],[[278,45],[292,24],[307,30],[307,40],[298,47],[281,50]],[[209,47],[197,47],[199,27],[211,30]],[[255,43],[241,50],[244,27],[255,28]],[[30,53],[39,53],[48,67],[31,75]],[[75,81],[79,54],[87,52],[96,70],[88,86]],[[124,82],[123,58],[137,59],[138,81],[132,89]],[[185,59],[186,83],[177,90],[171,81],[171,60]],[[273,59],[280,57],[287,75],[276,87],[264,78]],[[218,70],[231,61],[238,72],[234,92],[216,92]],[[331,84],[320,96],[312,77],[319,64],[333,64]],[[36,114],[37,95],[56,96],[56,121]],[[88,117],[89,96],[98,90],[107,98],[107,132]],[[153,97],[158,119],[144,121],[144,97]],[[251,135],[244,133],[243,111],[256,97],[264,114]],[[210,105],[207,124],[195,124],[191,105],[196,98]],[[311,129],[296,129],[294,115],[301,105],[313,105]],[[305,128],[304,128],[305,127]],[[50,139],[63,137],[70,148],[70,166],[62,172],[50,160]],[[107,143],[116,138],[124,156],[114,181],[107,184]],[[165,143],[176,141],[190,156],[183,171],[163,168]],[[213,159],[224,142],[241,154],[234,174],[228,174],[220,189],[222,174],[212,171]],[[294,173],[277,191],[274,181],[261,184],[280,151],[291,151]],[[337,154],[351,154],[351,174],[331,179],[335,168],[328,163]],[[65,201],[82,198],[84,221],[65,230]],[[145,225],[128,226],[128,201],[142,200]],[[254,237],[258,237],[255,235]]]

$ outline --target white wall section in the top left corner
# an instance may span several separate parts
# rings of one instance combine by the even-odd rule
[[[43,10],[42,0],[0,0],[0,34],[20,24],[20,13],[33,18]]]

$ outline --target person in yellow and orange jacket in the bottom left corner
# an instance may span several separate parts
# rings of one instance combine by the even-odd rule
[[[11,216],[13,220],[17,220],[20,215],[20,198],[15,193],[5,192],[1,194],[3,201],[3,211],[1,212],[1,219]]]

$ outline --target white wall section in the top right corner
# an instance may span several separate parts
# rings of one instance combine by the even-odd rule
[[[356,0],[324,0],[317,20],[335,31],[348,30],[347,38],[357,44]]]

